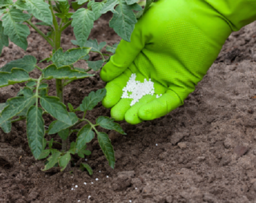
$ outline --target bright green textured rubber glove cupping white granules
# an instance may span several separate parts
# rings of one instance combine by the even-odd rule
[[[116,121],[130,124],[162,117],[183,104],[232,31],[256,20],[256,0],[158,0],[138,20],[131,42],[121,41],[102,68],[102,104]],[[151,78],[155,94],[132,107],[120,99],[131,74]]]

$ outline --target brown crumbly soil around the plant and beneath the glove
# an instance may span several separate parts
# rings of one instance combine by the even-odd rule
[[[91,39],[109,45],[120,40],[108,27],[110,17],[105,14],[95,22]],[[47,32],[45,27],[41,30]],[[64,34],[63,48],[74,47],[70,43],[74,39],[71,29]],[[94,139],[88,144],[92,154],[86,157],[94,169],[92,176],[80,171],[79,163],[85,161],[76,156],[72,173],[59,172],[59,168],[42,172],[45,160],[35,161],[31,155],[25,122],[13,124],[7,135],[0,130],[0,202],[255,202],[255,37],[256,23],[232,33],[184,106],[139,125],[120,122],[125,136],[105,131],[115,150],[114,170]],[[12,43],[4,48],[0,67],[27,54],[38,61],[48,57],[51,47],[33,30],[28,40],[27,52]],[[99,56],[93,54],[91,59],[99,60]],[[40,64],[42,68],[47,65]],[[86,63],[76,67],[86,68]],[[38,76],[37,71],[32,74]],[[55,95],[54,85],[54,81],[49,82],[51,95]],[[20,86],[24,84],[1,88],[0,103],[15,96]],[[73,82],[65,88],[65,103],[77,107],[91,90],[104,86],[98,73]],[[98,104],[87,118],[94,122],[99,115],[109,116],[109,110]],[[51,117],[44,118],[45,125],[53,121]],[[58,141],[57,135],[47,139],[52,137]],[[58,144],[54,147],[60,148]]]

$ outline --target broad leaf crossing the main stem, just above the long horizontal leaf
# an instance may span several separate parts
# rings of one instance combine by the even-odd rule
[[[71,65],[76,63],[81,57],[88,55],[89,52],[90,49],[88,48],[74,48],[63,53],[63,49],[59,48],[52,56],[52,62],[57,67]]]

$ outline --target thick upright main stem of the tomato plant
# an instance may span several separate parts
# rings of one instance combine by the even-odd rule
[[[54,23],[54,30],[55,30],[55,38],[54,38],[54,48],[55,50],[58,50],[61,47],[61,30],[58,25],[58,21],[56,19],[56,16],[54,14],[54,9],[52,8],[51,1],[49,2],[49,8],[52,13],[53,23]],[[63,103],[63,84],[62,79],[56,79],[56,95],[59,97],[59,102]],[[62,139],[62,151],[68,151],[69,148],[69,139],[66,140]]]

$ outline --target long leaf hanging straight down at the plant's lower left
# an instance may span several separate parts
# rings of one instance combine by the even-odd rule
[[[31,106],[27,112],[27,139],[29,147],[37,160],[42,153],[44,142],[44,119],[42,119],[42,108]]]

